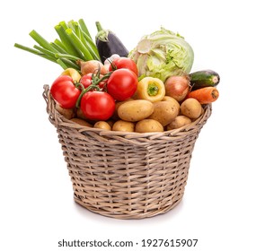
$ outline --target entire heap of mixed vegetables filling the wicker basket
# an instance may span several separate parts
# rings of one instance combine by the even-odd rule
[[[163,132],[189,125],[216,101],[219,75],[190,73],[190,44],[170,30],[144,36],[130,52],[96,22],[93,39],[84,20],[59,22],[58,39],[48,42],[35,30],[34,48],[14,44],[60,65],[51,84],[56,109],[83,126],[123,132]]]

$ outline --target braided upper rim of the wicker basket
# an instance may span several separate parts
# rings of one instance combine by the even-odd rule
[[[137,132],[121,132],[121,131],[107,131],[104,129],[100,128],[94,128],[94,127],[89,127],[86,125],[79,125],[75,122],[73,122],[70,119],[67,119],[63,115],[61,115],[55,108],[56,106],[56,101],[52,98],[50,91],[49,91],[49,85],[45,84],[43,86],[43,98],[47,102],[47,112],[50,116],[50,114],[54,115],[57,118],[57,125],[63,125],[67,127],[71,127],[76,129],[79,133],[83,134],[83,132],[93,132],[96,134],[99,134],[101,136],[119,136],[119,137],[125,137],[126,139],[136,139],[136,138],[158,138],[158,137],[163,137],[163,136],[168,136],[168,137],[175,137],[179,136],[179,134],[184,134],[184,133],[190,133],[190,131],[193,130],[198,130],[195,129],[195,126],[200,125],[203,126],[207,122],[207,118],[210,117],[211,112],[212,112],[212,105],[207,104],[203,105],[204,108],[204,113],[197,118],[196,120],[192,121],[189,125],[184,125],[178,129],[172,129],[169,131],[163,131],[163,132],[152,132],[152,133],[137,133]],[[54,123],[51,121],[52,124],[56,125],[56,122]]]

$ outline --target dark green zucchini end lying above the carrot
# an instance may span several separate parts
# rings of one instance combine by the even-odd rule
[[[220,81],[219,74],[212,70],[198,71],[191,73],[189,76],[192,90],[197,90],[208,86],[215,87]]]

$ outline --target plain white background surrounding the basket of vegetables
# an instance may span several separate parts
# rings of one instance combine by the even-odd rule
[[[148,250],[255,250],[255,8],[254,1],[13,1],[1,6],[0,249],[57,247],[66,240],[198,238],[197,247]],[[215,70],[220,98],[202,129],[182,202],[145,220],[115,220],[73,201],[66,163],[41,93],[62,71],[18,48],[29,32],[49,41],[60,21],[83,18],[113,30],[128,49],[161,25],[179,31],[195,52],[192,71]],[[143,247],[109,248],[143,250]],[[91,247],[92,248],[92,247]],[[144,247],[146,248],[146,247]],[[107,250],[108,248],[92,248]]]

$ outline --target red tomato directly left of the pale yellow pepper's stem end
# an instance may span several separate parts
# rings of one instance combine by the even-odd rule
[[[115,70],[107,82],[107,91],[114,100],[128,100],[137,91],[137,75],[128,69]]]

